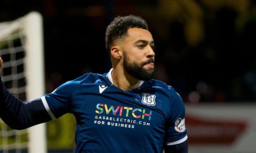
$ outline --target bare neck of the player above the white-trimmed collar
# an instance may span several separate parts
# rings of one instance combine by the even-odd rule
[[[135,89],[140,85],[139,79],[134,78],[118,67],[113,68],[111,76],[114,85],[123,91]]]

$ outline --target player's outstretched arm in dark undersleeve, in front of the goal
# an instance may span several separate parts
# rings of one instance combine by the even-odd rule
[[[0,58],[0,70],[3,61]],[[43,102],[40,98],[30,102],[22,102],[9,93],[0,77],[0,118],[17,130],[25,129],[36,124],[50,121]]]

